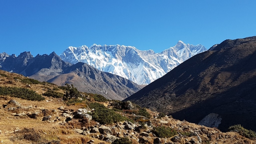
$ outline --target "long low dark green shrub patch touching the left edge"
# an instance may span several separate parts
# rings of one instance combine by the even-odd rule
[[[35,91],[20,87],[0,87],[0,95],[10,95],[11,97],[21,98],[24,100],[45,100],[44,97]]]

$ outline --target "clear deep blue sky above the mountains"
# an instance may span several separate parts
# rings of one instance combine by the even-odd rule
[[[60,54],[68,46],[161,52],[179,40],[209,49],[256,35],[255,0],[0,0],[0,53]]]

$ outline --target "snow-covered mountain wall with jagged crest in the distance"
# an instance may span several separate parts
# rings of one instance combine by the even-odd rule
[[[140,51],[132,46],[93,44],[89,48],[85,45],[68,47],[60,58],[73,64],[87,63],[137,84],[149,84],[191,56],[204,51],[206,48],[201,44],[194,46],[182,41],[160,53]]]

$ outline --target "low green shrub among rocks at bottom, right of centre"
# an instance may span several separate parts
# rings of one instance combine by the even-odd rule
[[[165,126],[153,127],[153,133],[159,138],[170,138],[177,134],[174,129]]]

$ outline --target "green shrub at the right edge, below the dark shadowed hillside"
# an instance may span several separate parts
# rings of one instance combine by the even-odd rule
[[[256,138],[256,132],[245,129],[241,124],[230,126],[228,131],[236,130],[238,133],[246,138]]]

